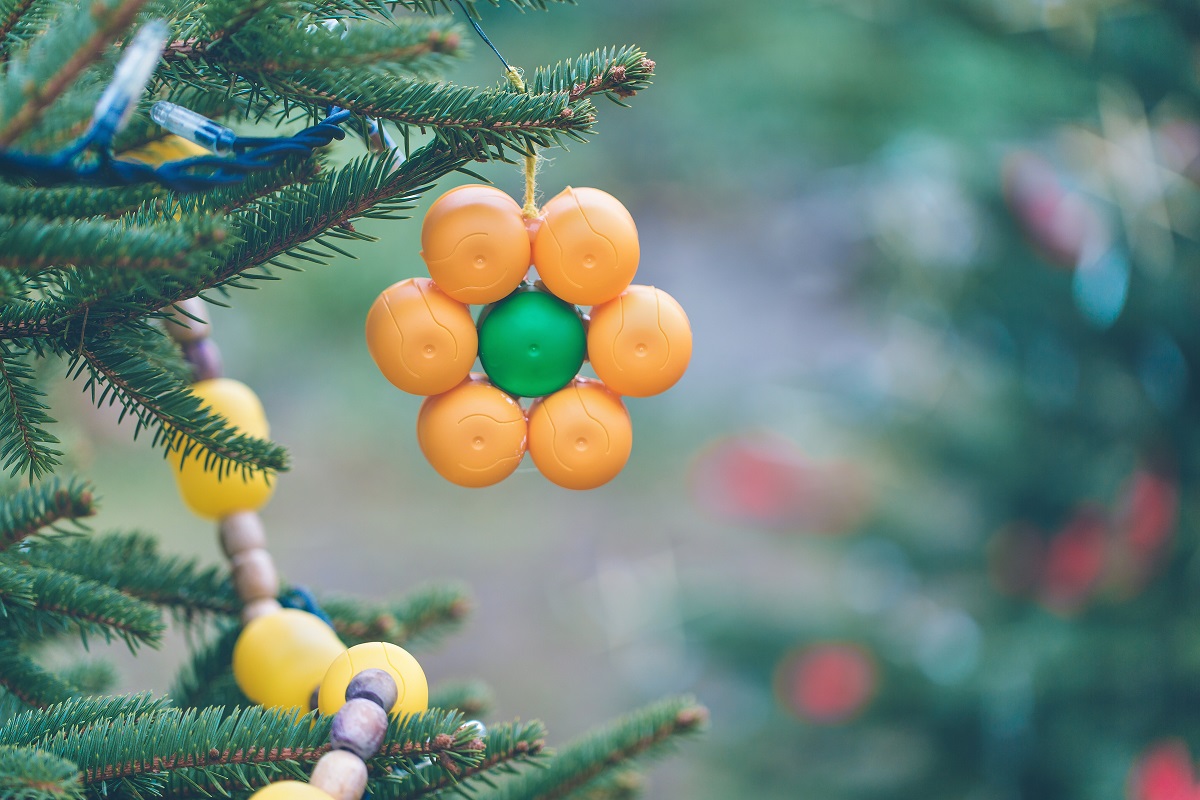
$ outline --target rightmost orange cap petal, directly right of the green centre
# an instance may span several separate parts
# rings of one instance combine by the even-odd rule
[[[592,309],[588,359],[618,395],[649,397],[671,389],[691,360],[691,326],[662,289],[632,285]]]

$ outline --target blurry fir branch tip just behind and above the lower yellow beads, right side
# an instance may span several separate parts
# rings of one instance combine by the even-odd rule
[[[430,642],[457,627],[470,613],[467,590],[458,585],[422,587],[386,606],[344,597],[322,599],[322,603],[347,646],[361,642]]]

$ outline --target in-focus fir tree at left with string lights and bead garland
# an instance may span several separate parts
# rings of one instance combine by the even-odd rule
[[[702,708],[672,698],[552,753],[538,722],[468,721],[485,708],[480,686],[436,684],[428,710],[391,716],[362,747],[366,734],[347,733],[353,715],[304,714],[317,705],[311,684],[296,703],[277,704],[282,711],[247,699],[234,670],[238,618],[248,631],[305,614],[280,610],[278,595],[313,619],[326,614],[319,636],[338,649],[420,643],[462,618],[460,590],[388,603],[280,593],[252,512],[208,509],[222,518],[230,575],[166,554],[145,535],[91,534],[96,489],[60,476],[72,453],[55,434],[44,383],[62,365],[96,405],[118,408],[125,427],[162,451],[185,495],[188,481],[220,477],[223,488],[202,494],[246,487],[265,503],[287,455],[266,439],[257,401],[239,395],[233,411],[218,411],[200,393],[220,383],[221,367],[197,299],[234,302],[240,289],[344,254],[346,242],[371,239],[356,221],[398,218],[473,163],[532,163],[539,149],[582,142],[595,98],[622,101],[653,74],[646,53],[620,47],[524,76],[505,65],[490,89],[448,84],[440,77],[470,34],[462,14],[479,11],[424,0],[0,7],[5,796],[245,796],[306,781],[314,765],[326,780],[313,777],[313,790],[340,800],[364,788],[397,800],[628,796],[628,759],[702,726]],[[343,138],[360,140],[360,155],[330,146]],[[164,613],[198,643],[166,697],[104,694],[103,668],[42,661],[76,636],[155,645]],[[260,676],[270,691],[290,680],[290,664],[268,655],[278,667]],[[346,687],[348,702],[335,700],[373,720],[378,706],[404,702],[406,682],[382,679],[391,692],[400,684],[392,705],[386,691],[364,687],[367,673]],[[361,760],[365,787],[347,777],[358,772],[330,766],[337,754]]]

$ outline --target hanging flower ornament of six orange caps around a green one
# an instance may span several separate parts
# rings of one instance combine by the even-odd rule
[[[430,206],[421,247],[432,279],[384,290],[366,336],[388,380],[428,397],[416,434],[433,469],[458,486],[492,486],[528,449],[565,488],[616,477],[632,449],[620,396],[666,391],[691,359],[679,303],[631,285],[641,251],[625,206],[569,187],[523,212],[491,186],[461,186]],[[538,283],[526,282],[530,264]],[[485,306],[469,332],[468,303]],[[476,354],[485,374],[470,373]],[[578,374],[584,361],[600,380]],[[533,398],[528,413],[522,397]]]

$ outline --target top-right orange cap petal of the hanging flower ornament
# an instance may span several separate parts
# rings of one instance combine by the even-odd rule
[[[533,263],[546,288],[566,302],[612,300],[634,279],[640,258],[634,217],[612,194],[566,187],[542,207]]]

